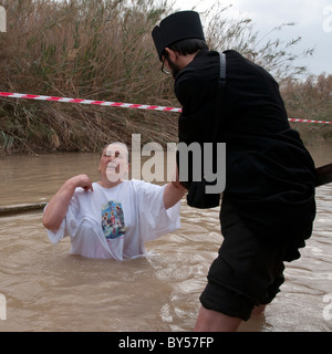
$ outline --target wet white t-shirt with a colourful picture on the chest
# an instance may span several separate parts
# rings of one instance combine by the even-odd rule
[[[53,243],[71,237],[71,254],[123,260],[146,253],[144,243],[180,227],[180,201],[166,210],[165,186],[124,180],[113,188],[93,183],[93,191],[76,188]]]

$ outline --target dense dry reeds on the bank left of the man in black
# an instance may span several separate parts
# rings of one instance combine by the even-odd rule
[[[159,72],[152,1],[4,1],[0,90],[143,104],[176,104]],[[157,100],[156,100],[157,97]],[[173,98],[173,102],[172,102]],[[96,150],[113,139],[176,139],[174,114],[61,103],[0,102],[2,150]],[[155,134],[155,133],[158,134]]]

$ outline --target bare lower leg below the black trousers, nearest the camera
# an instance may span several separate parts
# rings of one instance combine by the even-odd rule
[[[221,312],[200,308],[195,332],[236,332],[242,320]]]

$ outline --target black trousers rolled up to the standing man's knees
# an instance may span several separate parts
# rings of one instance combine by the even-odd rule
[[[222,204],[220,221],[224,241],[200,302],[208,310],[247,321],[255,305],[271,302],[280,291],[288,246],[261,242],[229,204]]]

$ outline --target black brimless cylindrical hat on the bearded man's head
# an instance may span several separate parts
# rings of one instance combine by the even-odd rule
[[[205,41],[199,14],[195,11],[180,11],[165,18],[152,32],[162,60],[164,49],[175,42],[196,38]]]

